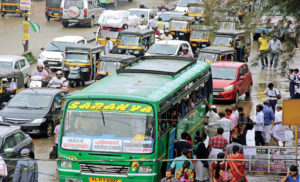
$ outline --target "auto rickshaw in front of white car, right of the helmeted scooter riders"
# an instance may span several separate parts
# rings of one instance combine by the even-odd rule
[[[96,79],[101,55],[104,55],[102,45],[77,44],[65,48],[63,71],[71,87]]]

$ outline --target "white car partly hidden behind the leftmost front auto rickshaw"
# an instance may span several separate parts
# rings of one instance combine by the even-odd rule
[[[46,48],[42,48],[38,58],[38,65],[49,65],[51,69],[62,69],[66,46],[72,44],[87,44],[82,36],[64,36],[53,39]]]

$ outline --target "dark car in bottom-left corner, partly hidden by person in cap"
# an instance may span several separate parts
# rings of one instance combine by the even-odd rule
[[[4,159],[21,158],[21,150],[28,148],[34,157],[33,140],[20,130],[20,127],[3,126],[0,124],[0,152]],[[5,180],[12,178],[17,160],[5,160],[8,175]]]

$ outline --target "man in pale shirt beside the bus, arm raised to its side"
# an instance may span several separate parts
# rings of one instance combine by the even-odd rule
[[[204,99],[204,102],[208,108],[208,112],[206,113],[204,120],[207,124],[207,126],[205,126],[205,131],[209,138],[212,138],[217,134],[218,127],[216,126],[216,123],[220,119],[220,116],[217,114],[218,111],[215,105],[210,106],[210,104],[207,102],[207,99]]]

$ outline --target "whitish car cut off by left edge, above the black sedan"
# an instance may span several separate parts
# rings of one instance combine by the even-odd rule
[[[27,83],[31,75],[30,65],[23,56],[0,55],[0,68],[21,71],[24,76],[24,84]]]

